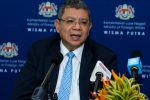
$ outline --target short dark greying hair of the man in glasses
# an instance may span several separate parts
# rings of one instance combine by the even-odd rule
[[[84,9],[88,12],[89,20],[91,21],[91,12],[88,6],[82,0],[65,0],[65,2],[60,6],[58,12],[58,18],[62,18],[66,8]]]

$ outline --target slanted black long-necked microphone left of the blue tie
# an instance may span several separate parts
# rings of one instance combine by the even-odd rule
[[[47,88],[47,84],[50,82],[49,79],[50,79],[51,72],[56,65],[59,65],[61,63],[62,60],[63,60],[63,55],[61,53],[57,53],[57,55],[53,57],[53,59],[51,60],[52,64],[48,72],[46,73],[46,76],[44,77],[43,82],[41,83],[39,87],[35,88],[31,96],[32,100],[44,100],[44,97],[47,94],[46,88]]]

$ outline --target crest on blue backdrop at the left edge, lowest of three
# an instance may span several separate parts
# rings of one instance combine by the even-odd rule
[[[0,45],[0,56],[13,58],[18,55],[18,46],[15,43],[7,42]]]

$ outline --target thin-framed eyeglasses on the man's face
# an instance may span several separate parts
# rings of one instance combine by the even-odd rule
[[[68,26],[69,25],[70,26],[74,26],[74,25],[76,25],[78,23],[82,27],[87,27],[89,25],[89,23],[90,23],[90,21],[88,19],[79,19],[78,22],[74,18],[68,18],[68,19],[58,18],[58,20],[64,21]]]

